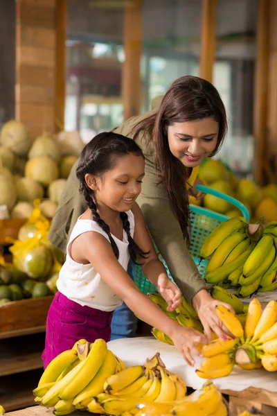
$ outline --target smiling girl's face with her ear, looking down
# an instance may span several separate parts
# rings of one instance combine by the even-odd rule
[[[132,209],[134,201],[141,193],[143,176],[143,157],[124,155],[118,157],[114,168],[104,173],[102,177],[90,177],[93,181],[92,186],[89,177],[86,180],[94,191],[98,207],[124,212]]]

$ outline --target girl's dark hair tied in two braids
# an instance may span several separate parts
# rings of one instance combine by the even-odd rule
[[[136,142],[129,137],[117,135],[114,132],[103,132],[94,137],[87,146],[82,150],[76,175],[80,180],[80,192],[84,195],[87,206],[91,209],[93,220],[100,225],[100,227],[109,236],[111,248],[114,250],[116,259],[119,257],[118,247],[111,236],[109,225],[100,218],[97,212],[97,201],[93,195],[93,191],[88,187],[84,179],[87,173],[101,177],[105,172],[109,171],[116,164],[118,157],[124,155],[141,156],[144,159],[141,148]],[[130,234],[130,225],[126,212],[120,212],[120,218],[123,223],[123,229],[127,233],[129,242],[129,254],[131,259],[136,263],[138,257],[147,257],[148,253],[143,252],[141,248],[134,242]]]

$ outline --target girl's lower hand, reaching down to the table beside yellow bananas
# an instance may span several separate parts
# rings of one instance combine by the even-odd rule
[[[182,327],[181,325],[179,325],[175,334],[170,335],[170,338],[190,367],[195,365],[195,360],[191,354],[202,357],[202,354],[197,349],[197,345],[207,343],[207,338],[204,336],[204,333],[192,328]]]

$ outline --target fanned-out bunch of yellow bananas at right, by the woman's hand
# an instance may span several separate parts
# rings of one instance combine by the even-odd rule
[[[201,345],[205,357],[196,370],[203,379],[228,376],[236,364],[244,370],[264,367],[277,371],[277,302],[271,300],[264,311],[257,299],[251,300],[244,329],[240,321],[225,306],[217,306],[217,315],[235,336],[227,340],[217,338]]]

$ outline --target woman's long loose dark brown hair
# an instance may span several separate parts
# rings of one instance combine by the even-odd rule
[[[213,156],[220,150],[226,135],[227,121],[224,104],[217,89],[211,83],[196,76],[182,76],[168,88],[157,114],[152,114],[137,123],[132,130],[134,139],[142,132],[153,140],[159,184],[163,184],[168,192],[172,208],[188,245],[190,243],[190,207],[186,182],[190,171],[170,152],[168,126],[207,117],[212,117],[219,123],[217,145],[210,155]]]

